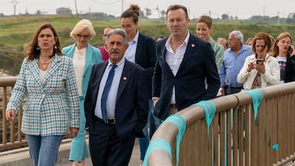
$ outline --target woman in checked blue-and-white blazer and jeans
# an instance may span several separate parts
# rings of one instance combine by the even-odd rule
[[[23,105],[21,131],[26,134],[34,166],[54,166],[63,136],[79,130],[79,96],[73,62],[61,53],[55,28],[39,26],[24,46],[21,71],[6,108],[14,120]],[[70,110],[70,111],[69,111]]]

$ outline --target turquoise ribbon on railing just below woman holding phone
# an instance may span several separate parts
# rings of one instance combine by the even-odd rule
[[[264,98],[264,95],[261,90],[259,89],[252,89],[252,90],[244,90],[242,93],[248,93],[252,96],[253,100],[253,110],[254,110],[254,122],[257,124],[257,113],[260,103],[262,103],[262,100]]]

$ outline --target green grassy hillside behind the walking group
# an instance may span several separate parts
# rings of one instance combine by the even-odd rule
[[[21,61],[23,61],[24,53],[23,46],[31,40],[33,32],[36,28],[44,22],[50,22],[56,27],[58,36],[61,40],[62,46],[68,46],[73,43],[73,39],[69,36],[71,29],[81,18],[76,16],[26,16],[26,17],[4,17],[0,18],[0,68],[9,71],[11,75],[19,73]],[[93,46],[101,46],[103,40],[101,33],[105,26],[120,27],[120,20],[113,19],[109,21],[97,21],[98,19],[91,19],[93,27],[96,31],[95,38],[90,41]],[[152,38],[155,36],[169,35],[167,26],[165,24],[151,24],[156,22],[152,20],[140,20],[138,27],[140,33],[147,34]],[[162,21],[163,22],[163,21]],[[291,36],[295,36],[295,26],[270,26],[270,25],[247,25],[247,24],[214,24],[213,38],[228,37],[228,33],[233,30],[242,31],[244,40],[254,36],[259,31],[265,31],[276,38],[276,36],[283,32],[289,31]],[[195,32],[195,22],[190,24],[190,32]]]

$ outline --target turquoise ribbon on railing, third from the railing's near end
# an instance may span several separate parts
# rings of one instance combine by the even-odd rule
[[[205,110],[205,119],[206,119],[206,123],[207,123],[207,135],[209,135],[209,127],[210,127],[210,124],[212,123],[212,120],[215,115],[215,110],[216,110],[215,105],[211,101],[208,101],[208,100],[202,100],[202,101],[195,103],[191,106],[195,106],[195,105],[198,105],[201,108],[203,108],[203,110]]]

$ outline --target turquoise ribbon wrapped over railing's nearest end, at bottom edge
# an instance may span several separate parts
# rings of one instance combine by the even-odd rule
[[[156,139],[150,142],[148,150],[145,152],[145,160],[143,160],[143,166],[148,166],[148,157],[150,156],[150,153],[159,149],[165,150],[169,154],[170,160],[172,159],[171,146],[169,142],[163,139]]]

